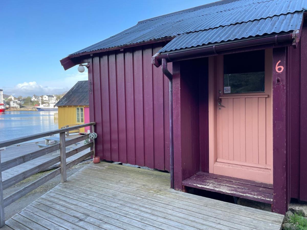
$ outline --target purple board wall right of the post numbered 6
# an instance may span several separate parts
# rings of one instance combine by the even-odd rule
[[[290,196],[307,201],[307,26],[297,48],[288,48],[290,68]]]

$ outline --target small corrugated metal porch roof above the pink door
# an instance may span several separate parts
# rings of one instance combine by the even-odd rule
[[[215,29],[181,34],[166,44],[159,52],[191,48],[257,35],[293,31],[300,29],[303,14],[303,12],[288,13],[235,25],[221,26]]]

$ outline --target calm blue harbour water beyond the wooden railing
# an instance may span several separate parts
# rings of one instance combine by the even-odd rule
[[[54,113],[57,111],[6,110],[0,114],[0,141],[58,129],[57,120],[53,119]]]

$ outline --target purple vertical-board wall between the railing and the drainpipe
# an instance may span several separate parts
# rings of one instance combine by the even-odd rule
[[[91,58],[90,119],[96,122],[96,155],[102,160],[169,170],[169,81],[151,64],[162,45]]]

